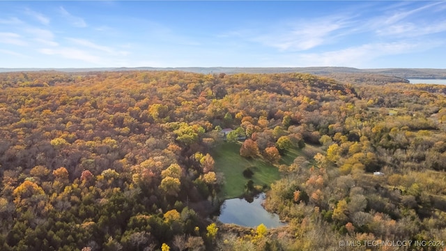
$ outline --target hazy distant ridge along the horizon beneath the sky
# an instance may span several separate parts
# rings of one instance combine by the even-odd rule
[[[382,69],[357,69],[350,67],[303,67],[303,68],[258,68],[258,67],[178,67],[178,68],[0,68],[0,73],[28,72],[28,71],[59,71],[65,73],[85,73],[100,71],[127,71],[127,70],[181,70],[192,73],[310,73],[314,75],[332,75],[337,73],[364,74],[373,73],[404,79],[446,79],[446,69],[431,68],[382,68]]]

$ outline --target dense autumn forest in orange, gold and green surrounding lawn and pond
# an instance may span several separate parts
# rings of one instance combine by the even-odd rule
[[[1,73],[0,250],[445,250],[445,86],[365,79]],[[211,215],[227,144],[279,170],[246,191],[288,225]]]

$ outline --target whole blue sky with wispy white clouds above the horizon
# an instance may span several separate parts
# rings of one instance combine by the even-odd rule
[[[445,1],[0,1],[1,68],[446,68]]]

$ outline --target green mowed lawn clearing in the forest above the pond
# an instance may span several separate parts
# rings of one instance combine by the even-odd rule
[[[215,160],[215,171],[224,174],[224,185],[220,196],[225,199],[243,195],[245,184],[249,179],[254,185],[268,185],[280,178],[279,169],[261,158],[247,159],[240,156],[240,144],[224,143],[217,146],[212,153]],[[245,178],[243,170],[251,167],[254,175]]]

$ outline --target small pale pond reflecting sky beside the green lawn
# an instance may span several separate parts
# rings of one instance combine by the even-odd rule
[[[244,227],[257,227],[263,223],[268,228],[282,227],[283,223],[279,215],[269,213],[262,206],[265,194],[261,193],[254,197],[254,201],[248,202],[246,199],[226,199],[218,220],[223,223],[232,223]]]

